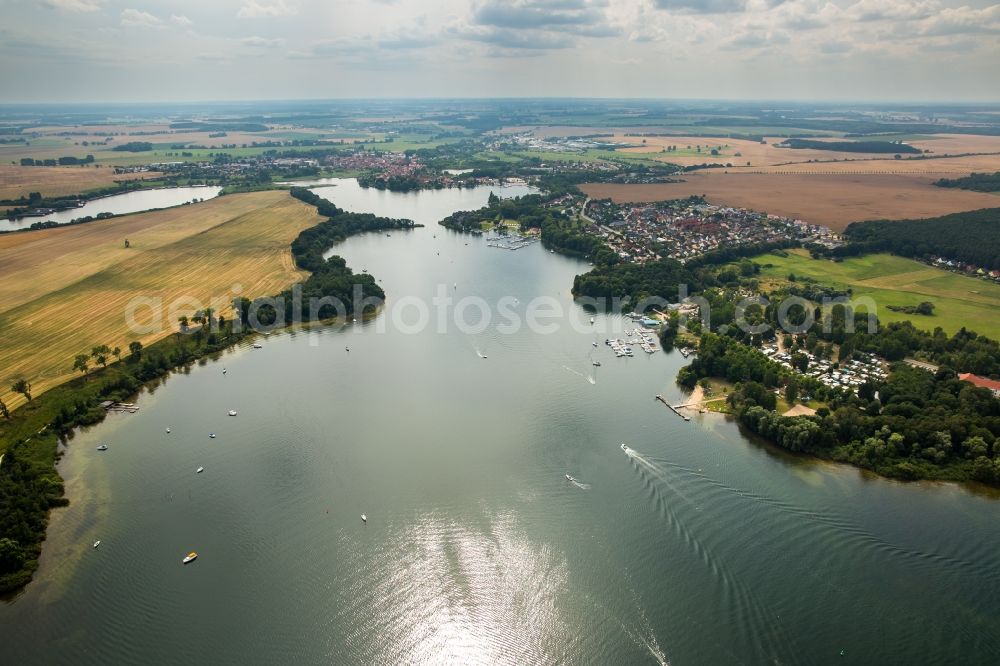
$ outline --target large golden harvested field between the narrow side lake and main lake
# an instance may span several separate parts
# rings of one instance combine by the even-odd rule
[[[95,345],[125,350],[163,338],[196,304],[226,312],[237,293],[270,295],[303,279],[290,245],[319,220],[311,206],[270,191],[0,237],[0,397],[20,404],[9,392],[17,377],[35,394],[61,383],[73,375],[73,357]],[[136,297],[162,304],[162,326],[130,331]],[[141,308],[136,319],[149,324],[153,312]]]

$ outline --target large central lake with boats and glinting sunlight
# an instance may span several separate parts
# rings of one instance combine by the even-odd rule
[[[585,263],[433,224],[467,192],[317,191],[429,225],[337,246],[386,309],[77,435],[4,663],[997,663],[998,501],[682,421],[654,395],[682,400],[684,359],[614,358],[621,320],[569,294]],[[442,291],[567,315],[405,330]]]

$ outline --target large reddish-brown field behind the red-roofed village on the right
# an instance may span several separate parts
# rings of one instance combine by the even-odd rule
[[[1000,196],[935,187],[921,175],[809,175],[698,172],[683,183],[581,186],[595,199],[660,201],[705,195],[712,203],[752,208],[823,224],[836,231],[872,219],[935,217],[1000,207]]]

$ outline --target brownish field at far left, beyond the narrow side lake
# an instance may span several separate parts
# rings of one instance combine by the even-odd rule
[[[118,181],[155,178],[159,173],[115,175],[109,167],[22,167],[0,164],[0,199],[17,199],[31,192],[42,196],[80,194]]]

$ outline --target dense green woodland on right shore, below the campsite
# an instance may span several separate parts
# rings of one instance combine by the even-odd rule
[[[698,358],[678,381],[700,377],[739,382],[729,397],[740,422],[790,451],[849,462],[904,479],[975,479],[1000,485],[1000,400],[942,368],[932,374],[905,364],[854,396],[795,376],[732,338],[705,335]],[[773,388],[796,382],[827,403],[815,416],[773,411]],[[818,384],[818,382],[817,382]],[[877,398],[876,398],[877,396]]]

